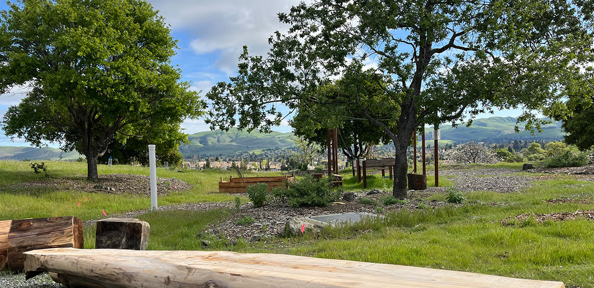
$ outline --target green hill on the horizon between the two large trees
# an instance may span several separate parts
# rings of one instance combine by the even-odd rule
[[[191,144],[181,145],[179,150],[185,157],[191,157],[192,154],[217,155],[239,151],[261,151],[276,147],[293,147],[291,137],[293,133],[290,132],[273,131],[270,134],[263,134],[255,131],[248,133],[235,128],[229,129],[228,132],[214,130],[189,135],[188,140]]]

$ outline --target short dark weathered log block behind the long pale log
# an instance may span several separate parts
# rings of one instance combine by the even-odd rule
[[[96,249],[146,250],[149,223],[138,219],[109,218],[97,221]]]

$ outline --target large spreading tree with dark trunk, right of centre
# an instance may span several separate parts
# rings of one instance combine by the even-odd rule
[[[290,28],[270,37],[266,57],[245,48],[238,75],[210,90],[208,122],[266,131],[283,117],[276,103],[321,103],[330,124],[349,110],[393,141],[393,195],[405,198],[406,150],[419,125],[522,108],[519,121],[539,129],[535,110],[584,86],[591,7],[583,0],[302,2],[279,14]],[[359,93],[368,74],[383,89],[375,99]],[[318,97],[340,76],[355,93]]]

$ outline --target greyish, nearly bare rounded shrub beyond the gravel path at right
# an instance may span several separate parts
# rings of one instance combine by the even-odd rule
[[[461,164],[495,164],[501,161],[495,151],[490,150],[483,143],[475,143],[474,141],[457,145],[448,150],[448,154],[445,154],[444,157]]]

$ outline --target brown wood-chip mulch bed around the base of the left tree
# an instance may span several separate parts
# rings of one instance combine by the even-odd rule
[[[106,186],[113,189],[95,188],[97,186]],[[172,191],[184,191],[191,188],[191,186],[188,182],[179,179],[157,178],[157,194],[159,196],[167,195]],[[90,193],[150,196],[150,178],[149,176],[134,174],[103,174],[99,175],[97,182],[90,182],[86,181],[86,176],[74,175],[59,179],[21,182],[8,185],[6,189],[12,191],[19,189],[73,190]]]

